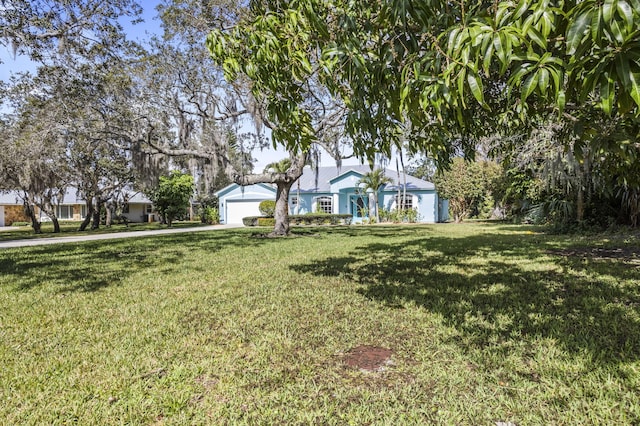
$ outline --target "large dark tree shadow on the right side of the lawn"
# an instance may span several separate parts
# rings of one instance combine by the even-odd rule
[[[368,299],[441,314],[468,349],[551,338],[599,363],[640,358],[640,267],[550,254],[534,236],[484,234],[374,243],[292,266],[341,276]],[[626,280],[625,285],[623,281]]]

